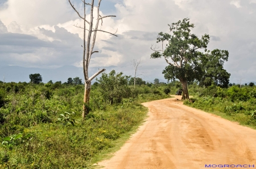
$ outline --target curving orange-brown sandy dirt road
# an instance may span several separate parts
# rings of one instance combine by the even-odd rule
[[[98,164],[111,169],[199,169],[205,164],[256,168],[256,130],[174,99],[143,103],[149,109],[146,122],[114,157]]]

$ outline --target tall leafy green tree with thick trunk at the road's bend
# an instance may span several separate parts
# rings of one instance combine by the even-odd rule
[[[170,26],[170,33],[160,32],[156,43],[162,43],[161,50],[154,50],[151,54],[151,58],[164,57],[168,66],[163,70],[164,78],[168,80],[179,79],[183,87],[182,99],[189,99],[188,95],[188,82],[198,81],[205,82],[204,79],[210,79],[218,82],[221,77],[218,73],[210,73],[209,69],[216,66],[228,59],[228,52],[226,50],[214,50],[214,52],[207,52],[207,45],[210,37],[205,34],[201,37],[197,37],[191,33],[191,29],[195,27],[194,24],[189,23],[189,19],[185,18],[177,23],[172,23]],[[166,48],[164,49],[164,43],[167,41]],[[204,53],[204,52],[206,53]],[[221,53],[220,59],[215,58]],[[204,65],[207,60],[213,60],[211,64]],[[223,65],[223,64],[222,64]],[[219,66],[221,67],[221,66]],[[223,67],[222,67],[223,68]],[[224,73],[225,74],[225,73]],[[213,78],[213,75],[217,78]],[[226,78],[229,76],[226,74]],[[224,83],[225,81],[222,81]],[[221,83],[221,84],[222,84]],[[225,82],[226,83],[226,82]],[[205,83],[206,84],[206,83]]]

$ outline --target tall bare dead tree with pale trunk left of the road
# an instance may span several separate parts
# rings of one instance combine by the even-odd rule
[[[82,3],[84,3],[84,15],[80,15],[79,11],[77,11],[75,9],[75,6],[72,5],[72,3],[70,2],[70,0],[68,0],[70,5],[72,6],[73,10],[75,10],[77,12],[77,14],[79,15],[79,17],[84,20],[84,26],[75,26],[77,28],[81,28],[84,31],[84,45],[82,46],[84,48],[84,52],[83,52],[83,56],[82,56],[82,66],[84,69],[84,105],[82,107],[82,118],[84,118],[88,113],[89,113],[89,108],[88,108],[88,104],[89,104],[89,100],[90,100],[90,86],[91,86],[91,82],[92,80],[97,77],[97,75],[101,74],[103,71],[105,71],[105,69],[101,69],[99,70],[97,73],[93,74],[92,77],[89,77],[88,75],[88,67],[89,67],[89,63],[90,63],[90,58],[92,57],[93,53],[96,53],[98,51],[93,51],[94,48],[94,44],[96,41],[96,34],[98,31],[101,32],[105,32],[105,33],[110,33],[110,32],[106,32],[106,31],[102,31],[101,29],[98,29],[98,25],[101,21],[101,25],[102,25],[102,19],[107,18],[107,17],[115,17],[114,15],[108,15],[108,16],[101,16],[100,15],[100,4],[101,4],[101,0],[98,0],[98,6],[94,6],[94,0],[92,0],[91,3],[86,3],[85,0],[82,1]],[[85,15],[85,5],[89,5],[90,6],[90,20],[86,20],[86,15]],[[97,18],[96,18],[96,24],[93,28],[93,9],[94,7],[97,8]],[[86,24],[89,24],[89,28],[86,28]],[[87,37],[87,41],[85,42],[85,31],[88,31],[88,37]],[[116,33],[116,32],[115,32]],[[111,35],[117,36],[115,35],[115,33],[110,33]],[[93,36],[92,36],[93,35]],[[92,43],[90,43],[90,41],[92,40]]]

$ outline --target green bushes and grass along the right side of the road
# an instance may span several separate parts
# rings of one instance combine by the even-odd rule
[[[256,128],[255,86],[240,87],[240,84],[232,84],[228,88],[221,88],[212,84],[203,88],[192,83],[189,92],[194,97],[185,100],[184,104]]]

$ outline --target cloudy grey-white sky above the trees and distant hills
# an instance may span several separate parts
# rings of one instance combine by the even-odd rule
[[[81,1],[71,2],[82,14]],[[158,47],[156,37],[169,32],[168,24],[189,18],[192,33],[210,36],[209,50],[229,51],[224,69],[230,82],[256,81],[256,0],[102,0],[100,14],[117,16],[105,18],[100,28],[118,36],[97,33],[99,53],[90,67],[117,66],[133,75],[132,61],[141,60],[141,78],[164,79],[167,63],[150,58],[150,47]],[[83,32],[74,24],[83,23],[68,0],[0,0],[0,66],[82,67]]]

